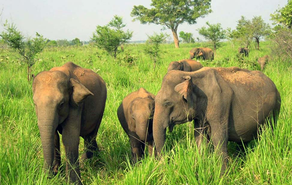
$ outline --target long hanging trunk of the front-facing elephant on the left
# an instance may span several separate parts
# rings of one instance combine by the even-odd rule
[[[44,168],[52,172],[54,162],[54,134],[58,122],[54,119],[38,119],[44,154]]]

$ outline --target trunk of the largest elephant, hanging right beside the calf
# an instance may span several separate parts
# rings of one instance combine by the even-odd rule
[[[161,116],[162,114],[160,111],[155,109],[153,117],[153,139],[158,158],[160,158],[161,153],[163,153],[166,128],[168,126],[168,119],[163,119]]]

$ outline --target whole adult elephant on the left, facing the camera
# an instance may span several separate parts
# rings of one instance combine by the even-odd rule
[[[44,154],[45,169],[57,172],[61,163],[60,138],[67,157],[70,181],[81,184],[78,146],[84,138],[82,160],[98,150],[96,135],[104,113],[107,89],[90,69],[72,62],[38,73],[33,79],[33,102]]]

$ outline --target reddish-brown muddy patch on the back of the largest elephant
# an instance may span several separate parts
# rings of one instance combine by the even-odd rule
[[[250,88],[257,88],[255,83],[265,84],[263,78],[257,73],[238,67],[221,68],[216,67],[216,71],[222,78],[231,83],[241,83],[249,85]]]

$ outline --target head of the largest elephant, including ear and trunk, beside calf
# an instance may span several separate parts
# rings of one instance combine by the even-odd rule
[[[179,76],[179,71],[170,71],[164,77],[161,89],[155,97],[153,138],[157,153],[161,153],[166,128],[172,131],[176,124],[190,121],[195,116],[197,97],[193,93],[190,76]]]

